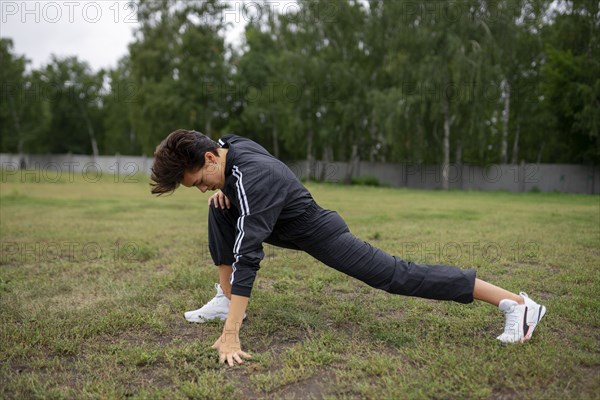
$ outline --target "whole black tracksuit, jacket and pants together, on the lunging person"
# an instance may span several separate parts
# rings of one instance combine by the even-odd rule
[[[263,242],[306,251],[324,264],[390,293],[473,301],[475,270],[420,265],[358,239],[338,213],[319,207],[281,161],[252,140],[227,135],[225,185],[230,210],[209,208],[209,247],[216,265],[231,264],[231,293],[249,297]]]

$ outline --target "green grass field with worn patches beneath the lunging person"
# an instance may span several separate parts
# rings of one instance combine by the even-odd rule
[[[229,368],[210,349],[221,323],[182,317],[214,295],[208,194],[1,178],[0,398],[600,398],[598,196],[308,184],[357,236],[548,313],[506,346],[492,306],[393,296],[267,247],[241,333],[254,358]]]

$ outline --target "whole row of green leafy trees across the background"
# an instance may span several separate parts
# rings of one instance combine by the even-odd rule
[[[597,2],[253,3],[240,46],[225,1],[138,2],[112,70],[31,70],[0,41],[2,152],[151,155],[190,128],[249,136],[315,178],[317,159],[600,161]]]

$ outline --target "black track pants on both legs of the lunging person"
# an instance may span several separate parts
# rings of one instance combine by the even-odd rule
[[[232,205],[209,207],[209,248],[215,265],[231,265],[239,212]],[[389,293],[427,299],[473,301],[475,270],[422,265],[391,256],[350,233],[334,211],[311,205],[288,223],[277,224],[267,243],[302,250],[336,270]]]

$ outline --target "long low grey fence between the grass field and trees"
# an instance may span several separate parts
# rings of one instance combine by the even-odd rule
[[[0,154],[3,178],[9,175],[36,174],[38,180],[57,181],[60,174],[81,173],[87,177],[103,174],[133,177],[149,175],[153,159],[144,156],[87,156],[74,154],[31,155]],[[308,178],[306,161],[289,163],[299,178]],[[511,192],[561,192],[600,194],[600,167],[569,164],[492,164],[487,166],[454,165],[445,171],[450,189],[507,190]],[[393,187],[439,189],[444,170],[439,165],[345,163],[321,161],[310,168],[310,178],[325,182],[347,182],[351,178],[374,178]]]

